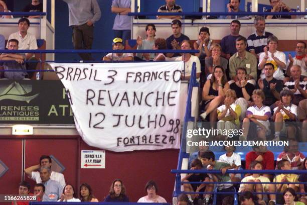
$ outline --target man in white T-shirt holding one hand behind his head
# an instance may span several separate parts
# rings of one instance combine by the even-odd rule
[[[35,170],[38,170],[43,166],[51,168],[51,164],[52,164],[51,157],[48,155],[42,155],[40,158],[40,164],[26,168],[25,173],[28,175],[29,178],[35,180],[36,183],[42,183],[40,172]],[[50,178],[54,181],[58,181],[63,188],[66,185],[65,178],[62,173],[52,171]]]

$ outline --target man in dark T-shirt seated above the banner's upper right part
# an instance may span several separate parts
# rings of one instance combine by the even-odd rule
[[[172,21],[172,31],[173,35],[166,39],[167,41],[167,48],[169,50],[180,50],[180,45],[184,40],[190,41],[190,38],[181,33],[181,21],[173,20]],[[168,53],[167,57],[178,57],[180,56],[179,53]]]

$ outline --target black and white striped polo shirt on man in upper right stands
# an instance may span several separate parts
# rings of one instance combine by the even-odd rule
[[[257,32],[251,34],[247,38],[247,50],[254,50],[256,54],[263,52],[263,48],[267,46],[267,38],[272,36],[270,32],[264,32],[262,36],[258,36]]]

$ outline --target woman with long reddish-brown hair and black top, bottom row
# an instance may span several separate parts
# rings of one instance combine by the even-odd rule
[[[120,179],[115,179],[112,182],[109,195],[104,199],[104,202],[129,202],[126,188]]]

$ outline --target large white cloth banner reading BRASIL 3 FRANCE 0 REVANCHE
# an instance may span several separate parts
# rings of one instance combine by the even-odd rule
[[[182,61],[51,66],[88,145],[115,152],[180,147]]]

